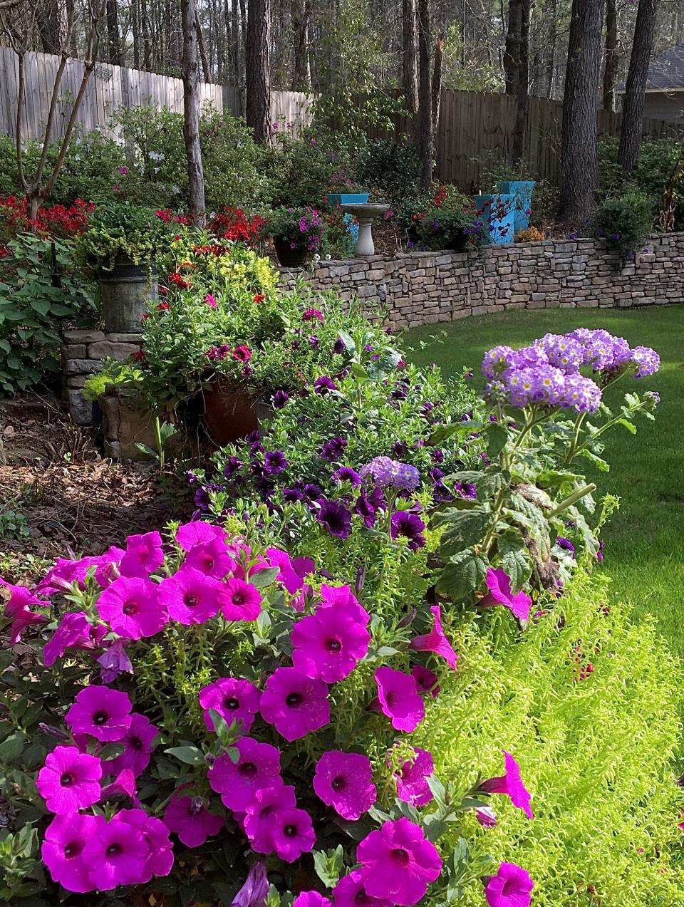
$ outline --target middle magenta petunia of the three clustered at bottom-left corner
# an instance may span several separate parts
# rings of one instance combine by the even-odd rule
[[[95,816],[93,835],[83,848],[89,878],[102,892],[117,885],[137,885],[145,877],[149,844],[131,824],[114,815],[109,822]]]

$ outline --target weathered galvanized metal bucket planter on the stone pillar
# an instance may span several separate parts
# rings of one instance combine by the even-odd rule
[[[117,261],[100,274],[100,305],[108,334],[140,334],[148,300],[159,295],[157,272],[146,262]]]

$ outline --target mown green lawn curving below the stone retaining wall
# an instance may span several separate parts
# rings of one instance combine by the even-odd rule
[[[684,307],[506,312],[416,328],[406,339],[415,346],[416,364],[436,362],[445,375],[473,366],[479,387],[479,366],[490,346],[523,346],[547,331],[560,334],[573,327],[603,327],[660,354],[660,372],[633,382],[640,390],[659,391],[656,422],[640,419],[637,435],[620,427],[609,434],[605,455],[611,472],[591,479],[599,493],[621,499],[604,532],[616,593],[630,601],[635,614],[655,614],[672,649],[684,657]],[[420,349],[418,341],[428,346]],[[628,386],[616,385],[607,403],[614,405]]]

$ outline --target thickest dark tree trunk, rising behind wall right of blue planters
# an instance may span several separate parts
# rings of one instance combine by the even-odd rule
[[[562,109],[561,215],[591,215],[599,185],[598,115],[602,0],[572,0]]]

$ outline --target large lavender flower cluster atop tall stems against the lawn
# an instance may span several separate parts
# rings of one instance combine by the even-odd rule
[[[591,366],[599,383],[581,374]],[[633,349],[608,331],[578,327],[568,334],[545,334],[531,346],[514,350],[493,346],[484,354],[486,394],[513,406],[542,404],[591,413],[601,405],[601,385],[625,372],[653,375],[660,357],[648,346]]]

